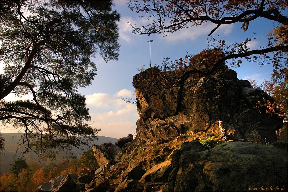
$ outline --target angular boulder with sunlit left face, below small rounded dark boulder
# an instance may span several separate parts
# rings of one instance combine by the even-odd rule
[[[100,146],[93,144],[92,149],[100,167],[107,163],[114,165],[120,162],[121,156],[124,154],[120,147],[112,143],[103,143]]]

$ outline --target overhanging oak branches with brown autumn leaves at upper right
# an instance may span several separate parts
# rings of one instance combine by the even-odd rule
[[[284,75],[287,79],[287,17],[281,14],[287,8],[286,1],[130,1],[129,8],[132,11],[136,10],[137,13],[144,12],[146,14],[144,17],[149,20],[149,24],[146,26],[132,25],[134,28],[132,33],[138,35],[160,33],[167,35],[184,28],[193,28],[206,22],[212,22],[216,25],[208,34],[211,36],[221,25],[240,22],[243,31],[247,31],[251,21],[257,20],[257,18],[266,18],[274,22],[275,26],[274,34],[268,34],[266,46],[250,50],[249,42],[256,37],[243,39],[240,43],[230,45],[226,44],[225,40],[211,37],[211,39],[207,39],[209,48],[203,50],[197,59],[207,59],[207,56],[215,49],[223,51],[223,54],[209,59],[209,64],[212,64],[213,67],[207,68],[206,71],[190,67],[179,79],[184,79],[190,73],[210,75],[223,62],[228,63],[229,60],[232,60],[230,65],[240,66],[242,61],[239,58],[243,57],[260,65],[272,64],[274,67],[273,77]],[[282,37],[286,37],[286,40],[283,40],[285,38]],[[165,62],[167,63],[167,61],[169,58],[166,58]],[[187,55],[185,59],[170,63],[174,67],[182,64],[189,65],[193,62],[192,56]],[[277,78],[277,81],[287,84],[285,78]]]

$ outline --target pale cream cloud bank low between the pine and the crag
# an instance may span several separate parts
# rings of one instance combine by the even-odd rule
[[[130,97],[132,91],[122,89],[112,97],[107,93],[86,95],[86,104],[90,108],[92,127],[101,129],[98,135],[121,138],[136,132],[139,118],[136,105],[126,103],[119,97]]]

